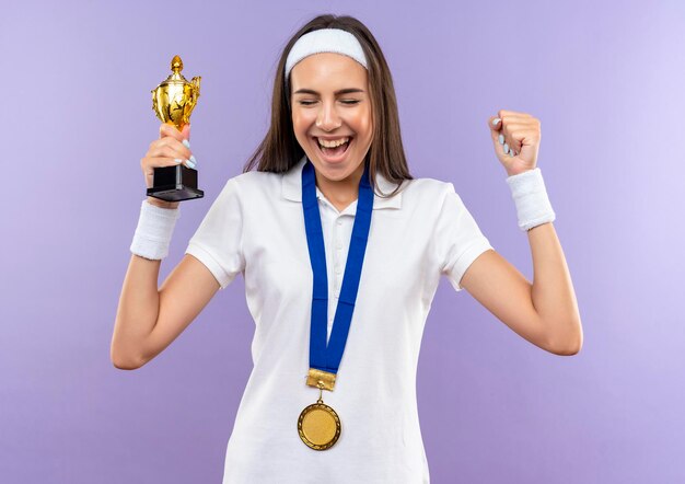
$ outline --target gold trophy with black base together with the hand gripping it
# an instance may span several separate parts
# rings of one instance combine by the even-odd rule
[[[200,77],[188,82],[181,71],[183,61],[174,56],[173,73],[152,92],[152,110],[162,120],[160,139],[150,145],[141,166],[146,173],[148,197],[164,200],[160,205],[175,207],[177,201],[201,198],[197,188],[195,157],[187,141],[190,134],[190,113],[200,95]],[[150,172],[152,171],[152,177]],[[150,200],[150,198],[148,198]]]

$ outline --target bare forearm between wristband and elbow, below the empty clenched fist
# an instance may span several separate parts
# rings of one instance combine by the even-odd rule
[[[564,251],[552,222],[527,231],[533,253],[533,306],[548,329],[549,343],[576,354],[583,341],[578,302]]]

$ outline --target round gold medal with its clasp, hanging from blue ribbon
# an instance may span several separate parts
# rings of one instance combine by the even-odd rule
[[[312,368],[310,369],[307,384],[318,388],[318,400],[316,403],[306,406],[300,413],[300,418],[298,418],[298,434],[300,434],[300,439],[302,439],[307,447],[314,450],[326,450],[338,441],[341,428],[340,417],[338,417],[336,411],[326,405],[322,399],[324,389],[333,390],[335,385],[335,374]]]

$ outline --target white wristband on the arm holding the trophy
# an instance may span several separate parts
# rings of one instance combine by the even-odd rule
[[[169,244],[176,220],[181,218],[181,208],[162,208],[142,200],[138,227],[131,242],[131,253],[152,261],[160,261],[169,255]]]

